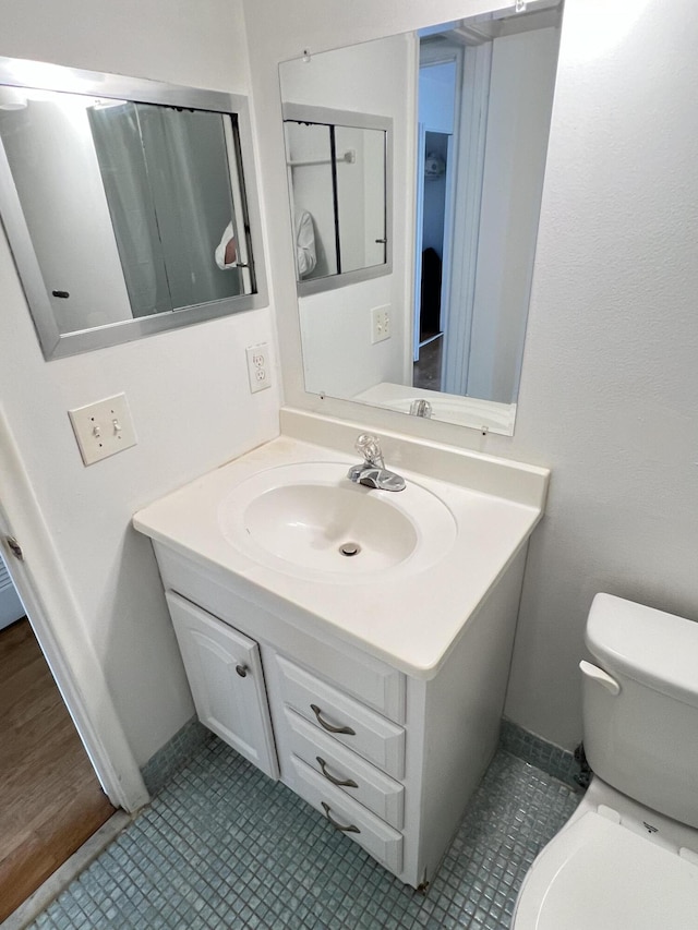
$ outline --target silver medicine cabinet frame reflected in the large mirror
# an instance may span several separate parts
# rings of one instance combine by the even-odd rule
[[[284,64],[284,62],[281,62]],[[342,271],[339,275],[326,275],[324,278],[311,278],[297,281],[298,297],[332,291],[359,281],[370,281],[383,275],[393,274],[393,120],[390,117],[378,117],[373,113],[358,113],[352,110],[335,110],[330,107],[315,107],[306,104],[281,104],[284,122],[318,123],[321,125],[349,126],[350,129],[374,129],[385,132],[385,262],[381,265],[370,265],[368,268],[357,268],[353,271]],[[286,153],[288,160],[288,152]],[[289,178],[289,195],[291,183]],[[291,204],[289,203],[289,208]]]

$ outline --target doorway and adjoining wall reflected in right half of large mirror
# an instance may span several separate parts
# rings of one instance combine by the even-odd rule
[[[559,9],[551,7],[420,33],[414,361],[417,374],[430,339],[437,338],[435,387],[448,395],[508,406],[517,400],[558,25]],[[449,140],[446,152],[442,133]],[[424,327],[419,305],[428,287],[422,240],[429,212],[436,212],[430,197],[440,177],[446,191],[436,336]]]

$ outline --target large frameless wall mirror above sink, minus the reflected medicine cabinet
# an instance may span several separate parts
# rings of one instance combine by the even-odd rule
[[[389,290],[299,291],[308,391],[513,434],[562,16],[516,5],[281,63],[285,106],[392,118],[394,201],[414,204]]]

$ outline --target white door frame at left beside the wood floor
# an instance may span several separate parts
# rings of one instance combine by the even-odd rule
[[[149,795],[1,406],[0,535],[8,571],[97,778],[115,807],[136,811]],[[19,542],[22,560],[8,538]]]

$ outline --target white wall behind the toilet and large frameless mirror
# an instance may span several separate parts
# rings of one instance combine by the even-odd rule
[[[278,61],[486,9],[243,2],[269,209],[286,197]],[[552,468],[507,713],[568,748],[595,591],[698,619],[697,32],[690,0],[566,2],[513,438],[305,396],[290,226],[268,231],[291,402]]]

